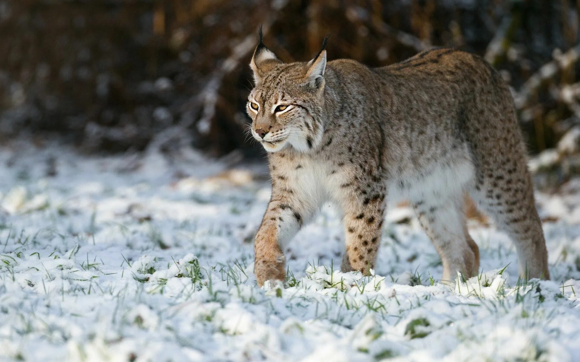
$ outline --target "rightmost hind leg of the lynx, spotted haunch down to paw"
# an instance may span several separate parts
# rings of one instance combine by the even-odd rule
[[[496,72],[488,81],[477,99],[465,104],[463,124],[477,165],[470,194],[513,240],[520,276],[549,279],[548,252],[512,96]]]

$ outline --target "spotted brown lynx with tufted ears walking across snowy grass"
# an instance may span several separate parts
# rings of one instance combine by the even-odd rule
[[[387,200],[405,199],[443,262],[441,281],[477,275],[463,197],[513,240],[520,275],[549,279],[525,146],[509,88],[482,58],[432,49],[369,68],[282,63],[262,42],[250,63],[251,132],[267,151],[271,199],[255,239],[255,275],[284,281],[283,250],[321,205],[342,212],[342,270],[374,268]]]

